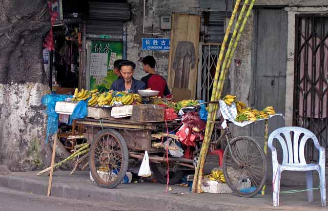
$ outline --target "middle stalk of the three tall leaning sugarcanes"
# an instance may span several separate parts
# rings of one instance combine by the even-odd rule
[[[237,32],[238,32],[238,36],[242,32],[239,29],[239,25],[242,22],[243,14],[244,14],[247,6],[248,6],[248,3],[249,3],[249,0],[246,0],[244,2],[243,6],[242,6],[242,9],[241,9],[241,11],[239,13],[239,16],[238,16],[238,19],[237,19],[236,26],[235,26],[234,31],[233,31],[233,35],[230,39],[230,43],[229,43],[228,50],[226,52],[226,56],[224,57],[224,61],[223,61],[223,64],[222,64],[222,69],[221,69],[221,72],[220,72],[220,78],[219,78],[219,81],[218,81],[217,90],[215,92],[215,98],[216,99],[220,99],[220,97],[221,97],[226,72],[228,72],[228,70],[229,70],[229,63],[230,63],[230,60],[232,58],[232,57],[230,57],[230,55],[233,55],[233,52],[234,52],[233,46],[235,46],[235,44],[238,43],[238,40],[236,39]],[[247,17],[245,16],[245,18],[247,18]],[[212,95],[213,95],[213,92],[212,92]],[[214,115],[211,116],[212,121],[215,121],[215,119],[216,119],[216,111],[218,110],[218,107],[219,107],[218,104],[214,105],[214,112],[215,113],[214,113]],[[209,137],[206,140],[204,140],[203,144],[202,144],[202,148],[204,147],[204,151],[202,153],[202,156],[200,157],[200,170],[199,170],[198,179],[197,179],[197,193],[201,192],[201,179],[202,179],[202,175],[203,175],[203,166],[204,166],[206,156],[207,156],[207,152],[208,152],[208,149],[209,149],[209,141],[210,141],[209,139],[210,139],[210,137],[213,133],[213,128],[214,128],[214,124],[212,124],[209,128],[209,133],[208,133]]]

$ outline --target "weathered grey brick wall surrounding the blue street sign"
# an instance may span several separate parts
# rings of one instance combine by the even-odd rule
[[[136,62],[135,78],[146,75],[142,71],[142,65],[138,61],[140,57],[152,55],[156,59],[156,70],[163,77],[168,76],[169,51],[142,51],[141,38],[170,38],[170,30],[166,36],[153,36],[142,33],[144,18],[144,0],[129,0],[132,8],[131,21],[127,23],[127,59]],[[183,0],[148,0],[146,1],[145,32],[164,33],[160,30],[160,15],[171,15],[172,12],[198,14],[199,4],[197,0],[189,0],[188,4]]]

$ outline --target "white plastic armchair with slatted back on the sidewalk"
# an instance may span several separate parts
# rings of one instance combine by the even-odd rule
[[[292,137],[294,141],[292,141]],[[282,164],[278,163],[277,150],[272,145],[274,139],[277,139],[282,147]],[[314,146],[319,151],[319,162],[317,164],[306,164],[304,147],[308,139],[313,140]],[[306,187],[308,189],[313,188],[312,171],[318,171],[320,178],[321,206],[326,206],[325,150],[319,145],[317,137],[311,131],[296,126],[279,128],[270,134],[268,146],[272,152],[273,206],[279,206],[280,176],[282,171],[305,171]],[[311,190],[308,191],[308,201],[313,202],[313,191]]]

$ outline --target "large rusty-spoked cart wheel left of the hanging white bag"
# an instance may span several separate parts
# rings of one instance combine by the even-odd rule
[[[114,188],[124,179],[129,153],[125,139],[115,130],[96,134],[89,155],[89,167],[99,187]]]

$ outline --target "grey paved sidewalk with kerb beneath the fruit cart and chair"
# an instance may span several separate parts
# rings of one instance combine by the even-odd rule
[[[302,174],[303,175],[303,174]],[[305,175],[305,174],[304,174]],[[282,190],[304,189],[305,180],[293,175],[283,175]],[[304,177],[305,178],[305,177]],[[317,178],[317,175],[314,175]],[[302,180],[302,181],[301,181]],[[48,176],[36,176],[36,172],[16,172],[0,175],[0,186],[18,191],[46,195]],[[301,181],[301,182],[299,182]],[[189,187],[172,185],[172,191],[165,193],[166,186],[157,183],[120,184],[114,189],[100,188],[90,181],[89,172],[56,171],[53,176],[51,196],[80,200],[116,201],[127,205],[142,206],[160,210],[326,210],[320,206],[320,192],[314,192],[314,202],[306,200],[306,192],[280,195],[280,206],[272,206],[271,186],[267,195],[253,198],[238,197],[233,194],[193,194]],[[283,185],[289,184],[289,187]],[[317,181],[314,181],[314,185]],[[183,193],[183,195],[181,195]]]

